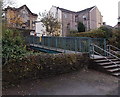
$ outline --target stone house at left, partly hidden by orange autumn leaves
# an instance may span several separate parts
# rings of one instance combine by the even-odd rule
[[[26,5],[19,8],[8,6],[4,9],[4,12],[8,27],[35,31],[35,21],[38,15],[32,13]]]

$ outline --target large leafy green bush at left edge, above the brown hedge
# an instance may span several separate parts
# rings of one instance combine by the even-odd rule
[[[22,57],[27,51],[24,39],[18,30],[5,28],[2,33],[2,62],[5,65],[11,59]]]

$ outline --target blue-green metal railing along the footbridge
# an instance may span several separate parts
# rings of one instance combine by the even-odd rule
[[[106,39],[104,38],[90,38],[90,37],[53,37],[53,36],[29,36],[27,43],[38,44],[46,47],[59,48],[63,50],[71,50],[76,52],[88,52],[91,54],[91,44],[94,43],[106,50]],[[99,49],[96,48],[96,51]]]

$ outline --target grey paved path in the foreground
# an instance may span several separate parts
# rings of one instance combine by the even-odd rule
[[[82,70],[56,77],[24,82],[3,91],[4,95],[106,95],[118,94],[116,77]]]

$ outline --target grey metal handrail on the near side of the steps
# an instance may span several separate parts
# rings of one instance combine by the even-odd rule
[[[120,60],[120,58],[118,58],[117,56],[115,56],[115,55],[111,54],[110,52],[108,52],[108,51],[106,51],[106,50],[102,49],[101,47],[99,47],[99,46],[97,46],[97,45],[95,45],[95,44],[91,44],[91,45],[93,46],[93,48],[94,48],[94,47],[99,48],[100,50],[102,50],[102,51],[104,51],[104,52],[106,52],[106,53],[109,53],[110,55],[112,55],[112,56],[113,56],[113,57],[115,57],[116,59]],[[97,53],[98,55],[103,56],[102,54],[100,54],[100,53],[96,52],[94,49],[93,49],[92,51],[93,51],[93,53]],[[94,55],[93,55],[93,57],[94,57]],[[118,64],[116,64],[115,62],[111,61],[111,60],[110,60],[110,59],[108,59],[107,57],[105,57],[105,56],[103,56],[103,57],[104,57],[106,60],[108,60],[108,61],[110,61],[110,62],[114,63],[114,64],[115,64],[115,65],[117,65],[117,66],[119,66]]]

